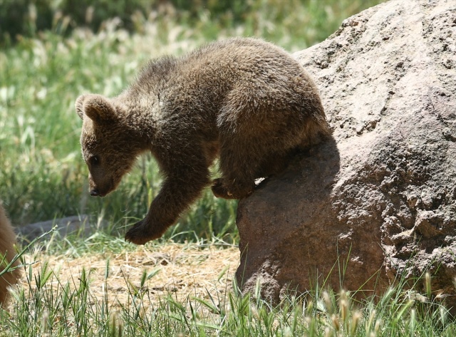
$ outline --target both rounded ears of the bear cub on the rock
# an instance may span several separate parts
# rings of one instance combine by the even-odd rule
[[[81,95],[76,100],[75,108],[81,119],[86,116],[98,124],[112,122],[117,117],[113,105],[102,95]]]

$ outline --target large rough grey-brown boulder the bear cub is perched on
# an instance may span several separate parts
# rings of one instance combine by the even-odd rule
[[[428,270],[456,304],[455,40],[455,0],[392,0],[295,54],[334,140],[239,202],[244,291],[380,292]]]

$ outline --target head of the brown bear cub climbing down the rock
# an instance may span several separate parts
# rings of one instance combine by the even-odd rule
[[[125,128],[125,109],[102,95],[81,95],[76,112],[83,120],[81,149],[88,166],[90,195],[115,190],[139,154],[138,142]]]

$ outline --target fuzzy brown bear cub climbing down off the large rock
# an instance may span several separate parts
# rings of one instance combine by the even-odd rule
[[[254,181],[284,169],[296,149],[330,134],[318,90],[289,53],[255,38],[208,44],[142,69],[114,98],[81,95],[81,146],[90,195],[115,190],[136,157],[150,151],[164,182],[149,212],[125,235],[161,237],[211,183],[217,197],[242,199]]]

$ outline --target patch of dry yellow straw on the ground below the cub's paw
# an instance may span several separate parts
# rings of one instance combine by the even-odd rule
[[[108,299],[109,306],[116,308],[128,306],[131,294],[138,292],[143,301],[150,299],[150,305],[160,301],[164,294],[172,294],[178,301],[188,296],[205,299],[208,294],[217,298],[232,289],[239,249],[170,243],[138,247],[134,252],[88,254],[81,258],[48,256],[40,252],[25,256],[25,261],[32,264],[33,276],[24,276],[20,286],[36,288],[36,278],[46,261],[52,275],[45,288],[53,291],[62,289],[67,283],[71,289],[76,289],[85,269],[89,275],[91,299],[98,303]],[[141,287],[144,274],[151,277]]]

